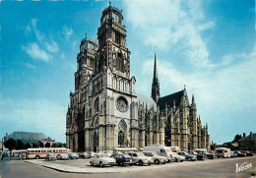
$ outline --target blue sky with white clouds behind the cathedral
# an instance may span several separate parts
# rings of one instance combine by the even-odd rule
[[[136,91],[185,88],[211,141],[256,132],[254,0],[112,0],[122,10]],[[108,1],[0,1],[0,138],[42,132],[65,142],[79,45],[96,39]]]

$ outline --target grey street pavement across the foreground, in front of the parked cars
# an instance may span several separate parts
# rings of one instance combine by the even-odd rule
[[[73,161],[73,160],[71,160]],[[236,173],[236,163],[252,163],[252,167]],[[169,167],[161,167],[158,169],[143,171],[125,172],[125,173],[104,173],[104,174],[77,174],[64,173],[42,166],[27,163],[24,160],[2,160],[0,161],[0,177],[1,178],[44,178],[44,177],[253,177],[256,173],[256,157],[239,157],[239,158],[221,158],[214,160],[169,163]],[[115,166],[118,169],[118,166]],[[101,169],[107,169],[104,167]]]

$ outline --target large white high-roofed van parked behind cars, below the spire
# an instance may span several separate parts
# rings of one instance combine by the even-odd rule
[[[172,152],[168,147],[164,147],[164,146],[145,147],[144,151],[155,151],[160,156],[166,157],[168,159],[168,162],[171,160],[174,160],[174,157],[172,156]]]

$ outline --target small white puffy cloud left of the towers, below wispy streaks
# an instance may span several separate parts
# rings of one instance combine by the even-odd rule
[[[22,49],[25,50],[27,54],[32,57],[32,59],[38,59],[47,62],[52,58],[49,53],[41,49],[35,42],[29,43],[27,46],[22,45]]]

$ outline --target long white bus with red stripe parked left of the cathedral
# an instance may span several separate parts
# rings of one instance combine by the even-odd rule
[[[61,154],[66,154],[71,152],[69,148],[28,148],[27,158],[45,158],[47,153],[54,153],[57,157]]]

